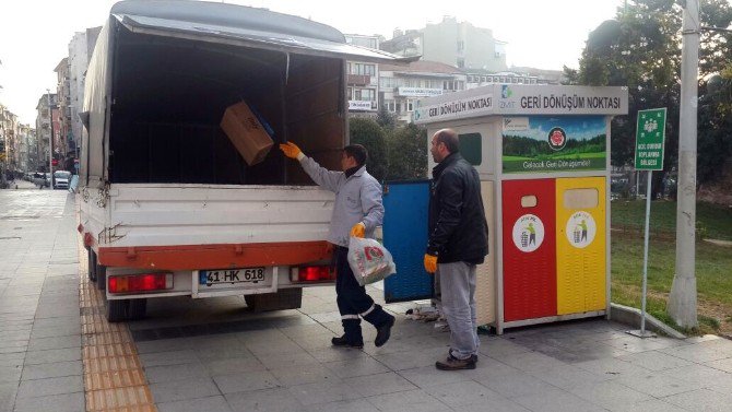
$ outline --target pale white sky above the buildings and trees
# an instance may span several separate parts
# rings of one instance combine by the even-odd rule
[[[3,0],[0,7],[0,104],[35,125],[54,69],[68,56],[74,32],[103,25],[111,0]],[[562,70],[578,67],[588,34],[615,16],[623,0],[225,0],[295,14],[349,34],[422,28],[444,16],[493,30],[507,42],[508,66]]]

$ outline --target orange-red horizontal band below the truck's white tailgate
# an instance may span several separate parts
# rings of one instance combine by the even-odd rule
[[[99,246],[98,261],[106,267],[118,268],[202,270],[296,266],[330,260],[331,254],[326,240],[139,247]]]

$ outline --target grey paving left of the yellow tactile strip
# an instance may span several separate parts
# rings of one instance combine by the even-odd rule
[[[19,188],[0,190],[0,411],[83,411],[73,201]]]

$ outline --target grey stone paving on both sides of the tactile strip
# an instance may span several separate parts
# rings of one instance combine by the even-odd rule
[[[83,259],[82,259],[83,260]],[[78,235],[63,191],[0,190],[0,411],[83,411]],[[370,289],[373,296],[380,292]],[[340,334],[333,287],[303,308],[241,297],[151,301],[129,323],[160,411],[730,411],[732,342],[638,340],[603,319],[482,336],[479,367],[447,373],[448,334],[398,315],[363,351]],[[86,339],[86,337],[84,337]],[[114,372],[114,370],[113,370]]]

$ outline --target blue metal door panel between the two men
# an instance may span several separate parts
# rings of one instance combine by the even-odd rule
[[[423,266],[429,181],[388,183],[383,192],[383,246],[397,263],[397,273],[385,280],[383,297],[387,303],[430,298],[433,276]]]

